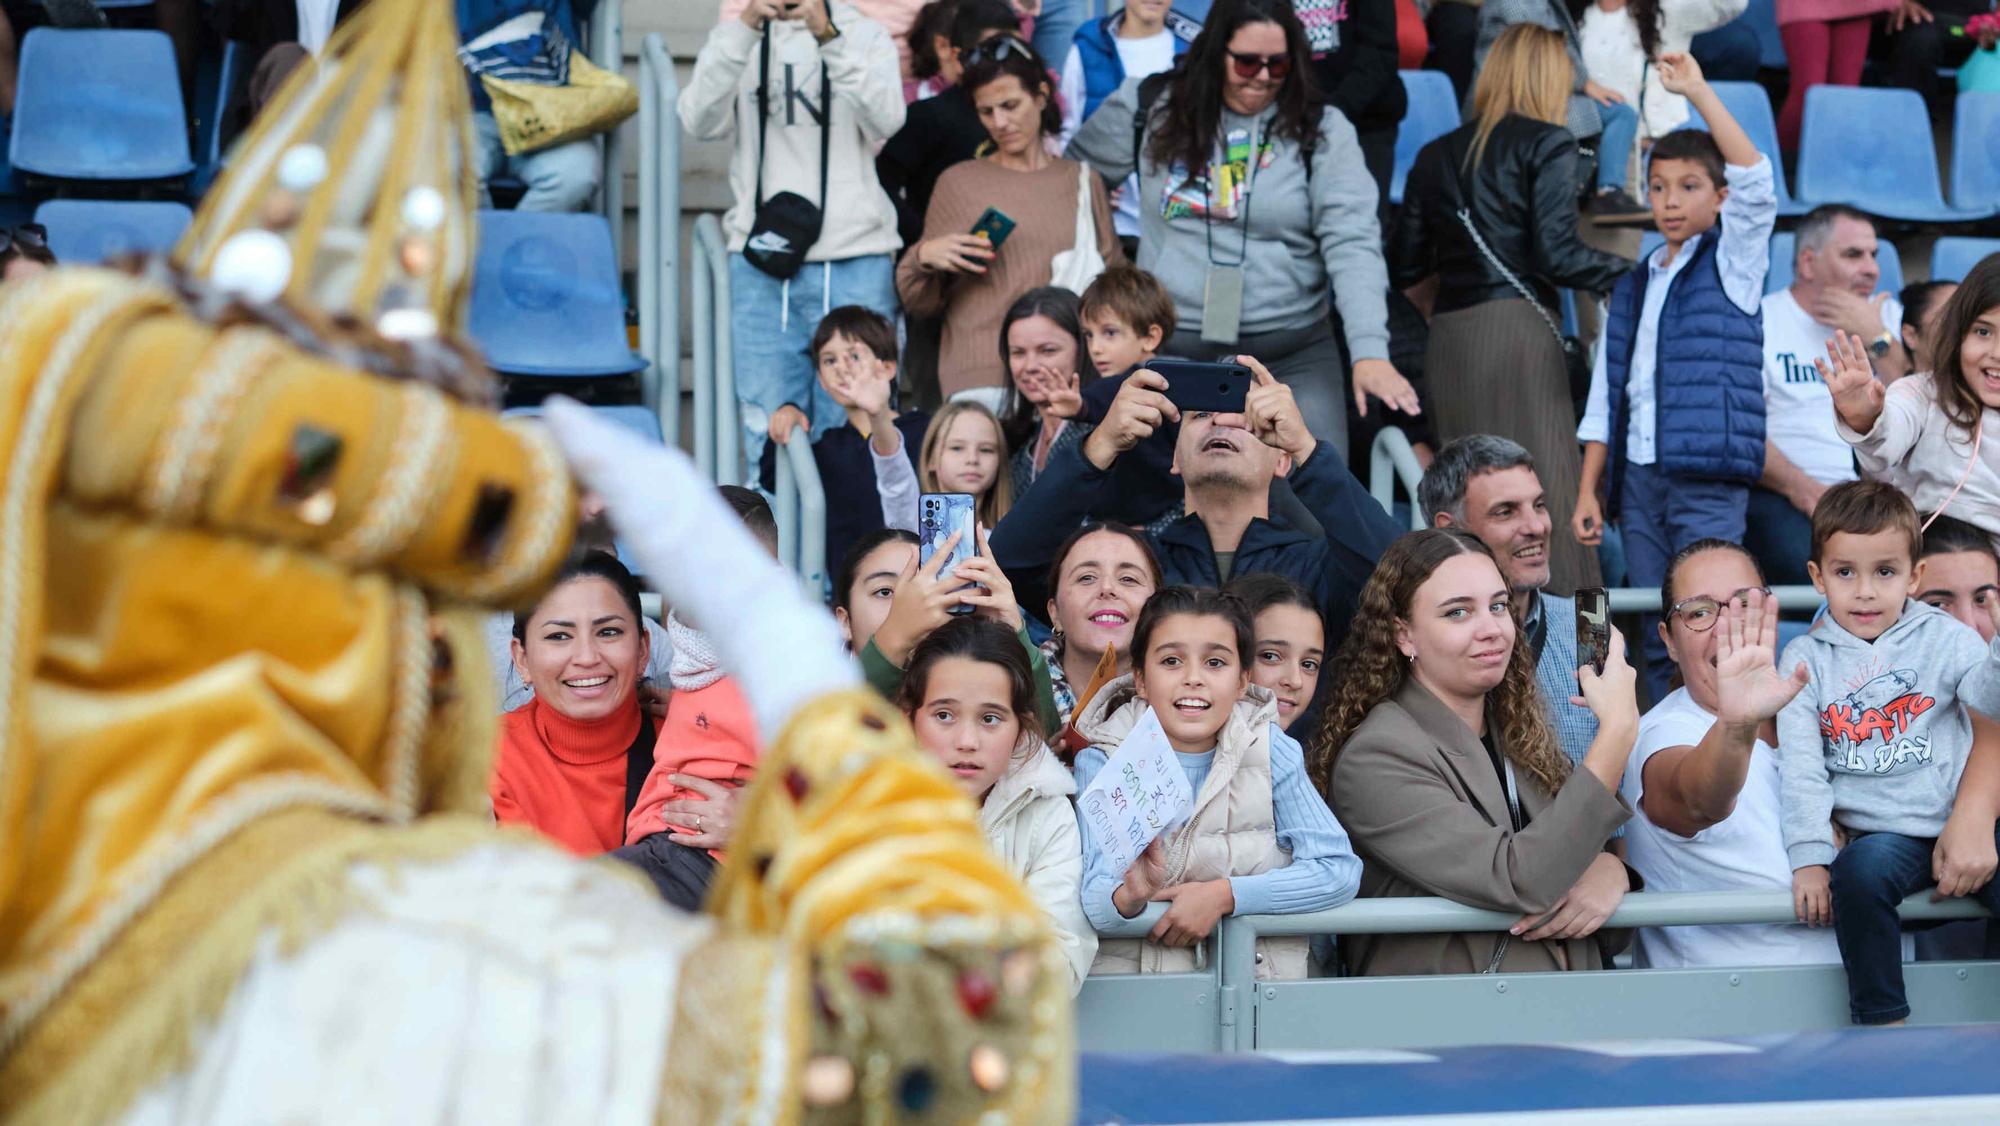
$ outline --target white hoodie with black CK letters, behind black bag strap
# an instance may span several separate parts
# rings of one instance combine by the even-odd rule
[[[830,0],[828,14],[840,30],[826,46],[814,42],[802,20],[770,22],[770,128],[764,154],[764,198],[796,192],[820,204],[820,240],[808,262],[838,262],[864,254],[894,254],[896,206],[876,178],[874,154],[902,128],[902,74],[896,44],[874,20],[844,0]],[[696,140],[728,140],[730,196],[722,216],[730,250],[742,250],[756,214],[758,128],[756,88],[762,36],[742,20],[724,20],[708,34],[694,60],[694,76],[680,92],[680,124]],[[826,194],[820,198],[820,68],[832,84]]]

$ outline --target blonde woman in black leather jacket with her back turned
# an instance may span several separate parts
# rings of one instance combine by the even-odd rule
[[[1438,440],[1502,434],[1526,446],[1558,530],[1582,462],[1556,288],[1606,294],[1632,268],[1576,234],[1570,78],[1560,34],[1508,28],[1472,88],[1472,120],[1416,154],[1390,242],[1396,288],[1436,282],[1432,302],[1412,300],[1432,312],[1424,376]],[[1552,534],[1548,552],[1552,592],[1598,584],[1596,554],[1572,536]]]

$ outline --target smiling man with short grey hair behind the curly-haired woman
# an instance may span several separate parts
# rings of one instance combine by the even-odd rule
[[[1598,720],[1576,696],[1576,602],[1548,594],[1548,538],[1554,520],[1534,458],[1520,442],[1496,434],[1466,434],[1430,462],[1416,502],[1432,528],[1462,528],[1500,562],[1514,600],[1514,624],[1534,652],[1534,678],[1548,706],[1548,724],[1570,762],[1582,762]]]

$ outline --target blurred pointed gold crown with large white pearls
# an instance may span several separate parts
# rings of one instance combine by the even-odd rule
[[[478,152],[444,0],[368,4],[238,142],[176,264],[390,340],[458,336]]]

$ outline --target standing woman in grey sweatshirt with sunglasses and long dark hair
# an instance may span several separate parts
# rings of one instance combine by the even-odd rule
[[[1290,0],[1218,0],[1180,66],[1106,98],[1070,156],[1114,184],[1138,170],[1138,264],[1182,324],[1160,352],[1258,356],[1346,458],[1350,380],[1328,286],[1356,408],[1374,396],[1416,414],[1416,390],[1388,362],[1376,184],[1310,66]]]

